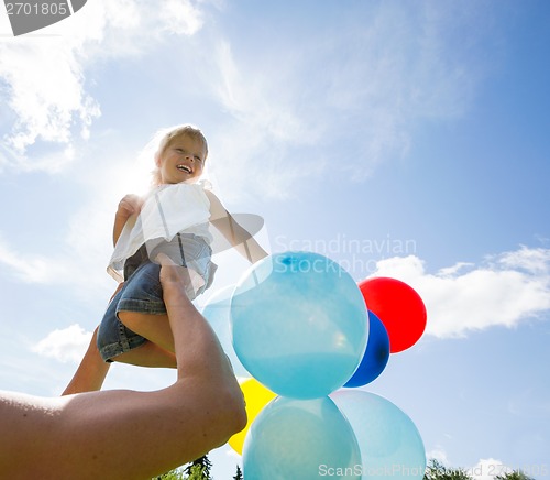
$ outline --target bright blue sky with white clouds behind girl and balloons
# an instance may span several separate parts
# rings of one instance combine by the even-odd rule
[[[425,336],[366,390],[429,457],[549,474],[550,4],[158,3],[88,0],[16,39],[0,13],[0,388],[63,390],[116,286],[112,217],[144,192],[139,152],[191,122],[266,248],[421,294]],[[219,257],[212,292],[246,266]],[[114,366],[106,388],[173,378]],[[220,479],[239,461],[212,459]]]

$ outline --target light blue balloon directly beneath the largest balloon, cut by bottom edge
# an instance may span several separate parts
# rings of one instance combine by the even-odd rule
[[[361,479],[349,422],[328,397],[277,397],[252,423],[243,447],[246,480]]]

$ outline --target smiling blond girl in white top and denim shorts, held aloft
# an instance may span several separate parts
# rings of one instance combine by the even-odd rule
[[[158,254],[187,268],[190,299],[211,285],[216,272],[210,225],[252,263],[267,255],[199,182],[207,155],[207,141],[197,128],[168,130],[155,153],[154,188],[145,198],[127,195],[120,201],[108,271],[123,283],[64,394],[99,390],[112,361],[177,367],[158,280],[161,266],[155,262]]]

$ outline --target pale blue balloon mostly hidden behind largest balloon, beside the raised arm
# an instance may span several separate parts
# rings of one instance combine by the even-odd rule
[[[233,294],[234,285],[227,286],[216,292],[202,307],[202,316],[208,320],[218,340],[223,348],[223,351],[231,361],[233,371],[237,377],[250,378],[251,374],[243,367],[237,357],[231,339],[231,326],[229,321],[231,295]]]

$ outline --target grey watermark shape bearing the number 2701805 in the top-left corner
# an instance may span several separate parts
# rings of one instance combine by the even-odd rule
[[[65,20],[87,0],[4,0],[6,13],[14,36],[24,35]]]

